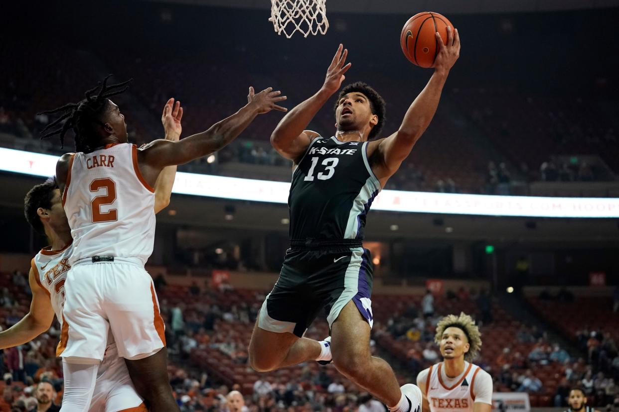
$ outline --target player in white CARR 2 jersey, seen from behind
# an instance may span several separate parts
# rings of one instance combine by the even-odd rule
[[[56,166],[74,240],[64,284],[66,345],[59,354],[74,385],[65,386],[71,401],[63,403],[62,412],[87,409],[108,329],[150,412],[179,411],[168,381],[163,319],[144,270],[154,243],[152,187],[164,167],[219,150],[258,114],[285,111],[276,104],[285,96],[271,88],[254,95],[250,87],[248,104],[206,132],[178,142],[155,140],[137,150],[128,143],[123,114],[108,99],[126,90],[128,82],[108,86],[107,80],[79,103],[50,111],[63,114],[48,128],[66,122],[42,132],[42,138],[59,133],[64,141],[72,128],[77,151],[62,156]]]

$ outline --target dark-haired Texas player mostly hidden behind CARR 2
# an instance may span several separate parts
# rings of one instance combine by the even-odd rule
[[[165,138],[178,141],[182,111],[177,102],[173,109],[170,100],[163,109],[162,122]],[[176,166],[163,169],[155,184],[155,213],[170,203],[170,195],[176,175]],[[29,282],[32,290],[30,312],[11,328],[0,332],[0,348],[14,347],[30,342],[50,329],[54,314],[66,336],[63,322],[64,283],[71,266],[69,258],[73,245],[71,229],[61,203],[61,193],[54,179],[36,185],[25,197],[24,212],[33,229],[46,235],[47,246],[32,259]],[[66,341],[58,343],[57,353],[63,350]],[[124,359],[119,358],[113,336],[109,335],[103,361],[99,366],[95,389],[89,412],[141,412],[147,411],[142,398],[129,377]]]

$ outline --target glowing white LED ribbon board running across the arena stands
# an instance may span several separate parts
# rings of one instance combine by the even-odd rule
[[[0,148],[0,170],[49,177],[58,156]],[[172,193],[286,204],[290,183],[178,172]],[[372,210],[521,217],[619,217],[619,198],[549,198],[383,190]]]

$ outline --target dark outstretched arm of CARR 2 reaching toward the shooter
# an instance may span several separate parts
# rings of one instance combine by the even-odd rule
[[[152,185],[163,167],[184,164],[218,151],[235,140],[258,114],[272,109],[285,112],[287,109],[276,104],[286,99],[286,96],[280,94],[280,91],[272,91],[269,87],[254,95],[254,88],[250,87],[248,104],[232,116],[215,123],[209,130],[177,142],[155,140],[138,152],[142,175]]]

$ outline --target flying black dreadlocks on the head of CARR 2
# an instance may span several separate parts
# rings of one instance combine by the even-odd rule
[[[86,91],[84,93],[85,99],[78,103],[67,103],[57,109],[39,112],[38,114],[61,113],[58,119],[41,130],[41,140],[54,135],[60,135],[60,144],[64,148],[64,135],[72,128],[75,134],[76,151],[84,153],[93,151],[97,147],[97,141],[93,140],[95,133],[93,133],[92,126],[95,124],[104,125],[99,120],[99,116],[108,106],[108,99],[111,96],[124,93],[129,88],[129,83],[133,80],[130,78],[126,82],[108,86],[108,78],[110,77],[111,74],[107,75],[103,82],[97,83],[97,86]],[[61,124],[63,120],[64,124],[62,126],[53,129]]]

